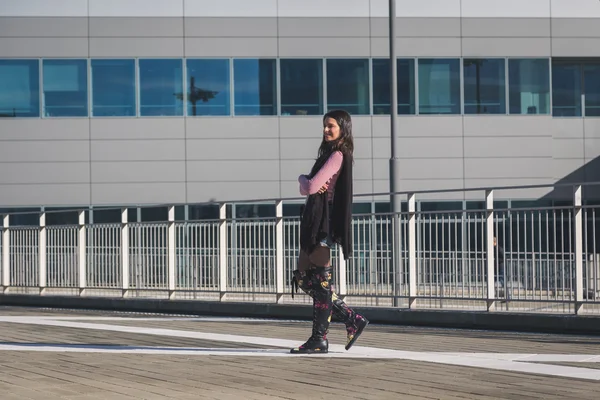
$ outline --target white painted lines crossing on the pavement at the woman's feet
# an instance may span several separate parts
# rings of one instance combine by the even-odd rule
[[[56,318],[56,319],[54,319]],[[85,317],[84,320],[98,320],[106,317]],[[94,324],[78,322],[76,319],[62,320],[61,317],[32,317],[32,316],[0,316],[0,322],[45,325],[64,328],[78,328],[124,332],[132,334],[158,335],[170,337],[185,337],[229,343],[250,343],[261,346],[284,347],[286,349],[231,349],[231,348],[172,348],[172,347],[143,347],[143,346],[96,346],[96,345],[47,345],[47,344],[0,344],[4,351],[48,351],[48,352],[86,352],[86,353],[132,353],[132,354],[169,354],[169,355],[227,355],[227,356],[263,356],[263,357],[299,357],[289,354],[289,348],[300,344],[298,341],[272,339],[255,336],[206,333],[197,331],[182,331],[175,329],[145,328],[136,326],[119,326],[109,324]],[[124,320],[116,318],[115,320]],[[132,318],[136,319],[136,318]],[[127,318],[126,320],[131,320]],[[137,319],[139,320],[139,319]],[[159,318],[151,318],[160,321]],[[164,319],[163,321],[168,321]],[[222,319],[219,319],[222,320]],[[248,321],[249,319],[244,319]],[[199,326],[200,327],[200,326]],[[315,357],[314,355],[308,357]],[[375,347],[354,346],[346,352],[342,345],[330,345],[330,353],[316,357],[329,358],[371,358],[397,359],[431,362],[436,364],[458,365],[465,367],[486,368],[510,372],[525,372],[552,376],[588,379],[600,381],[600,370],[575,368],[560,365],[538,364],[532,362],[600,362],[600,355],[565,355],[565,354],[502,354],[502,353],[440,353],[413,352],[381,349]],[[528,362],[524,362],[528,361]]]

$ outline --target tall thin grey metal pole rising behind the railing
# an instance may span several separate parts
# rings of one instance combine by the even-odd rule
[[[390,138],[392,156],[390,158],[390,208],[393,213],[393,235],[392,235],[392,266],[394,268],[394,306],[399,306],[398,296],[402,294],[402,263],[400,262],[400,197],[396,194],[400,191],[400,174],[398,173],[398,75],[396,60],[396,0],[389,0],[389,24],[390,24]]]

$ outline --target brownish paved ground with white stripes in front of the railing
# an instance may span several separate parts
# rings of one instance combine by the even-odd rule
[[[0,307],[0,399],[597,399],[600,337]],[[320,371],[320,373],[318,372]]]

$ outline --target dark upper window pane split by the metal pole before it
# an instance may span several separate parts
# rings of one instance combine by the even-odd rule
[[[415,113],[415,61],[397,61],[398,114]],[[390,114],[390,60],[373,60],[373,114]]]

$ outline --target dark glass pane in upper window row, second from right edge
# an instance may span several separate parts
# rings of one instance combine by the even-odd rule
[[[581,67],[576,63],[552,64],[552,114],[581,116]]]

